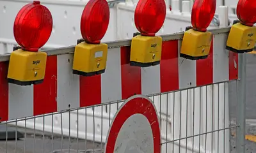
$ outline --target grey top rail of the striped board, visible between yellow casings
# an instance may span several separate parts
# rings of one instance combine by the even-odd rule
[[[230,31],[230,27],[223,27],[223,28],[209,30],[209,32],[211,32],[212,34],[228,33],[229,31]],[[180,32],[180,33],[174,33],[174,34],[164,34],[164,35],[161,35],[161,37],[163,38],[163,41],[181,40],[183,38],[183,35],[184,35],[184,32]],[[108,48],[118,48],[123,46],[130,46],[131,39],[108,41],[105,43],[108,44]],[[75,50],[75,45],[72,45],[70,47],[46,49],[46,50],[43,50],[43,52],[46,52],[47,55],[60,55],[60,54],[72,54],[74,53],[74,50]],[[0,55],[0,62],[9,61],[9,60],[10,60],[10,54]]]

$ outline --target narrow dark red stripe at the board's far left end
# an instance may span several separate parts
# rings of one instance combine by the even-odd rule
[[[8,120],[8,62],[0,62],[0,122]]]

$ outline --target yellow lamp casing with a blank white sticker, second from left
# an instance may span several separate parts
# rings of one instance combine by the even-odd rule
[[[82,76],[99,75],[105,72],[108,55],[106,43],[89,44],[84,41],[76,45],[73,73]]]

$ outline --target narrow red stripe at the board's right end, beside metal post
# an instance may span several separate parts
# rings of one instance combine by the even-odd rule
[[[238,79],[238,54],[228,51],[229,57],[229,80]]]

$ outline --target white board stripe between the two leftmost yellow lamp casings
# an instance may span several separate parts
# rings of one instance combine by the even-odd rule
[[[57,56],[57,109],[79,107],[79,75],[72,73],[73,54]]]

